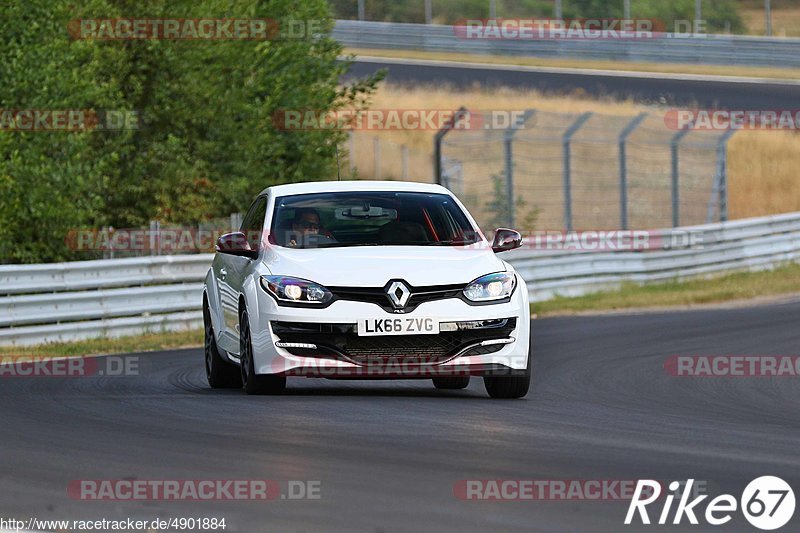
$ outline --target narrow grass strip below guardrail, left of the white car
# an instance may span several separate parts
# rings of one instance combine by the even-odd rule
[[[108,355],[135,353],[177,348],[199,348],[203,345],[203,330],[167,331],[147,333],[116,339],[97,338],[75,342],[54,342],[19,348],[0,347],[0,359],[7,356],[68,357],[81,355]]]

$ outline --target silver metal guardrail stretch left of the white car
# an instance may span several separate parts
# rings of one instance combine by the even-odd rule
[[[212,255],[0,265],[0,345],[199,328]]]

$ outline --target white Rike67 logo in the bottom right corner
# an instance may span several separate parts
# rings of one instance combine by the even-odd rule
[[[676,495],[679,501],[672,517],[671,523],[674,525],[680,524],[684,517],[690,524],[697,525],[699,523],[697,516],[700,515],[708,524],[721,526],[730,522],[733,513],[740,507],[750,524],[769,531],[783,527],[794,515],[794,491],[779,477],[762,476],[754,479],[745,487],[739,501],[730,494],[717,496],[707,503],[705,513],[700,512],[700,504],[708,498],[708,495],[697,496],[689,501],[693,484],[694,479],[686,482],[685,489],[682,489],[683,484],[678,481],[669,484],[672,494],[667,494],[664,498],[664,506],[656,523],[660,525],[669,523]],[[650,524],[647,506],[655,503],[661,497],[661,492],[661,484],[658,481],[639,480],[628,507],[628,514],[625,516],[625,524],[630,525],[637,514],[642,524]]]

